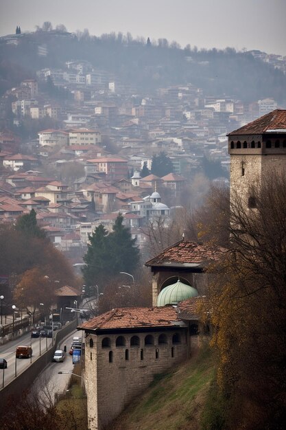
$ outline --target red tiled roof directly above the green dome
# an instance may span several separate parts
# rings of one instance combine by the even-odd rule
[[[145,266],[191,267],[216,261],[225,252],[222,247],[211,247],[205,243],[180,240],[180,242],[164,249],[158,256],[145,262]]]

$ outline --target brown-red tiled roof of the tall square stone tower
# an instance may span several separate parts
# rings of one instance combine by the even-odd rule
[[[260,135],[262,133],[270,133],[270,131],[283,131],[283,133],[286,133],[286,110],[275,109],[275,111],[266,113],[266,115],[257,120],[228,133],[228,136]]]

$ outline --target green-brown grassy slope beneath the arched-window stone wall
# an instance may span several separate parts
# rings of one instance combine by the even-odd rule
[[[213,379],[214,365],[208,348],[152,385],[115,420],[112,430],[195,430]]]

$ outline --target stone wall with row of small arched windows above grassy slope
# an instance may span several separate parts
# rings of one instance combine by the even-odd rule
[[[146,345],[146,341],[150,344]],[[103,429],[150,385],[155,374],[187,359],[188,354],[189,337],[185,328],[88,335],[85,349],[88,429]]]

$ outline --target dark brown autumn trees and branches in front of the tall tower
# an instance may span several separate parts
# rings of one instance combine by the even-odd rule
[[[232,194],[229,251],[215,268],[208,312],[215,328],[224,428],[286,426],[286,176],[252,189],[250,208]],[[211,269],[214,271],[214,268]],[[203,316],[203,315],[202,315]],[[204,313],[206,316],[206,313]]]

